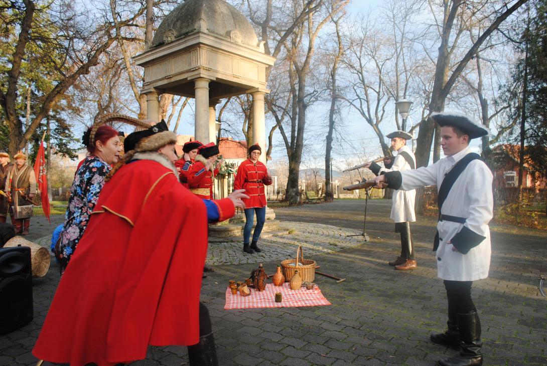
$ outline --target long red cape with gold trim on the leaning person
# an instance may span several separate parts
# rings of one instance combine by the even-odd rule
[[[103,366],[198,343],[206,252],[203,202],[171,169],[127,164],[104,185],[32,353]]]

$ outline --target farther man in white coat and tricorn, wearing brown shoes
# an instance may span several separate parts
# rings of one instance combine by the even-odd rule
[[[404,131],[395,131],[388,135],[391,139],[393,151],[397,151],[397,156],[391,160],[384,161],[385,168],[376,163],[367,163],[364,167],[369,168],[374,174],[379,175],[386,172],[416,169],[416,157],[410,147],[406,146],[406,140],[410,140],[412,135]],[[401,235],[401,254],[397,259],[388,262],[389,265],[397,270],[409,270],[417,267],[416,257],[414,255],[414,240],[410,233],[410,222],[416,221],[414,214],[414,201],[416,191],[396,190],[393,192],[391,205],[391,219],[395,222],[395,232]]]

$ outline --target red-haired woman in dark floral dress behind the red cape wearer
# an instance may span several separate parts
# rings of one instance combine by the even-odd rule
[[[94,132],[95,131],[95,132]],[[65,225],[55,245],[55,257],[63,273],[88,225],[91,211],[104,185],[104,177],[120,158],[121,144],[118,131],[107,125],[90,127],[82,141],[89,155],[78,168],[71,187]]]

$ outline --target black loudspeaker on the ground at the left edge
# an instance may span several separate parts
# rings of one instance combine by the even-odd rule
[[[31,249],[0,248],[0,334],[24,326],[33,317]]]

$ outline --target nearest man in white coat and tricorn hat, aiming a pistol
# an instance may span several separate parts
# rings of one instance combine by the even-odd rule
[[[433,250],[437,271],[444,280],[448,299],[448,329],[432,334],[438,344],[461,347],[459,353],[439,360],[441,366],[482,364],[481,326],[471,298],[473,281],[487,278],[490,269],[490,229],[493,215],[492,173],[469,140],[488,130],[456,113],[431,116],[441,126],[445,158],[406,172],[388,172],[375,178],[377,187],[413,190],[437,185],[439,222]]]

